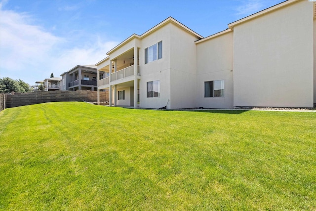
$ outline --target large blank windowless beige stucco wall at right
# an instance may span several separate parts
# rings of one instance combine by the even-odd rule
[[[234,106],[313,107],[313,4],[234,27]]]

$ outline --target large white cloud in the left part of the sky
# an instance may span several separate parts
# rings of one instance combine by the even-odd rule
[[[34,24],[26,13],[4,10],[0,2],[0,78],[21,79],[29,84],[54,73],[59,76],[79,64],[95,64],[117,42],[82,35],[83,42],[55,36]],[[68,46],[68,48],[65,48]]]

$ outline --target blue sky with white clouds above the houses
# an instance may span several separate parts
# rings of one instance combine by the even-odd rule
[[[95,64],[172,16],[203,37],[284,0],[0,0],[0,78],[32,85]]]

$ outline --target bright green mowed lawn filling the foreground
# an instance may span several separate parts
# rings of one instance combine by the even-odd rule
[[[9,108],[0,210],[316,210],[316,113]]]

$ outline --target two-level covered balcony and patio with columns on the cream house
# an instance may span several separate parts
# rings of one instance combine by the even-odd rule
[[[96,64],[98,91],[109,90],[109,106],[139,107],[139,49],[138,41],[132,40],[112,49],[108,57]]]

